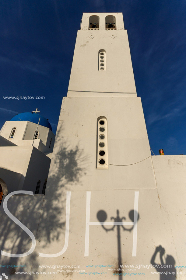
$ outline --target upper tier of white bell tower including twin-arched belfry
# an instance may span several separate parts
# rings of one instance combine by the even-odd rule
[[[83,13],[67,96],[136,97],[122,13]]]

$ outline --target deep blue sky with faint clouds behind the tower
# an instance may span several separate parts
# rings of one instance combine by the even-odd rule
[[[82,13],[122,12],[155,155],[186,154],[186,2],[17,0],[0,7],[0,127],[37,108],[55,133]],[[3,96],[45,96],[4,100]]]

